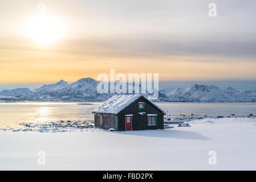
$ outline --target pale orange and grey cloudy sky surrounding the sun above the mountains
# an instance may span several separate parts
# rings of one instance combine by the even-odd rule
[[[226,25],[228,16],[210,19],[205,3],[190,6],[197,12],[191,18],[178,13],[181,5],[168,15],[164,5],[152,2],[151,16],[143,7],[132,9],[130,4],[43,1],[46,14],[62,22],[64,29],[61,38],[47,45],[26,32],[27,22],[38,13],[38,3],[0,2],[0,84],[96,78],[111,68],[125,74],[159,73],[160,80],[256,76],[255,50],[242,49],[251,45],[250,37],[243,36],[253,34],[250,25],[241,25],[241,36],[241,31],[230,32],[227,27],[241,27],[235,27],[239,26],[235,22]],[[125,7],[134,12],[128,16]],[[235,20],[241,24],[242,18]],[[234,35],[238,35],[235,44]]]

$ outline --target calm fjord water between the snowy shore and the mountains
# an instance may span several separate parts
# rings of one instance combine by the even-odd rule
[[[88,105],[75,102],[9,102],[0,103],[0,129],[15,127],[19,122],[47,122],[94,119],[92,110],[99,102]],[[168,115],[256,115],[256,103],[156,103]],[[20,127],[18,125],[18,127]]]

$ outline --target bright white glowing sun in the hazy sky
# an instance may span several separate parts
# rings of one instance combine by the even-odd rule
[[[48,45],[62,38],[64,28],[53,16],[36,16],[27,23],[27,35],[42,45]]]

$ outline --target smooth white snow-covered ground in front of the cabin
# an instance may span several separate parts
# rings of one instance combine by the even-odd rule
[[[1,131],[0,169],[256,169],[256,118],[188,122],[191,127],[147,131]],[[217,164],[208,163],[209,151]],[[44,152],[46,164],[39,165]]]

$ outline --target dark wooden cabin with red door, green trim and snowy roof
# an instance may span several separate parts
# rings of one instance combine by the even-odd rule
[[[140,94],[116,95],[92,111],[95,127],[102,129],[164,129],[165,111]]]

